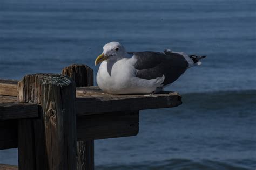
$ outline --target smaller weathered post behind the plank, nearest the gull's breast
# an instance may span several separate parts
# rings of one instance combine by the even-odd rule
[[[93,86],[93,69],[86,65],[70,65],[62,69],[76,82],[76,87]],[[77,170],[94,169],[94,140],[77,142]]]

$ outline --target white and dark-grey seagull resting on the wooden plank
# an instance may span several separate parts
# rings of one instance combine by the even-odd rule
[[[188,68],[206,56],[183,52],[126,52],[119,42],[104,45],[95,60],[99,88],[110,94],[154,94],[176,81]]]

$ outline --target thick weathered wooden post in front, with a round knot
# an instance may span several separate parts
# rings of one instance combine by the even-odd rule
[[[39,105],[39,118],[18,121],[19,170],[76,169],[75,83],[59,74],[26,75],[18,102]]]

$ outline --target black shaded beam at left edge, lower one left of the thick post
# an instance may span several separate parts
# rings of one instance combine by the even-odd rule
[[[0,121],[0,150],[17,147],[17,121]]]

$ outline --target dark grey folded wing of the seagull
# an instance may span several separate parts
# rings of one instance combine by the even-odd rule
[[[176,81],[188,67],[183,55],[169,51],[160,52],[129,52],[137,62],[136,76],[142,79],[156,79],[165,75],[164,85]]]

